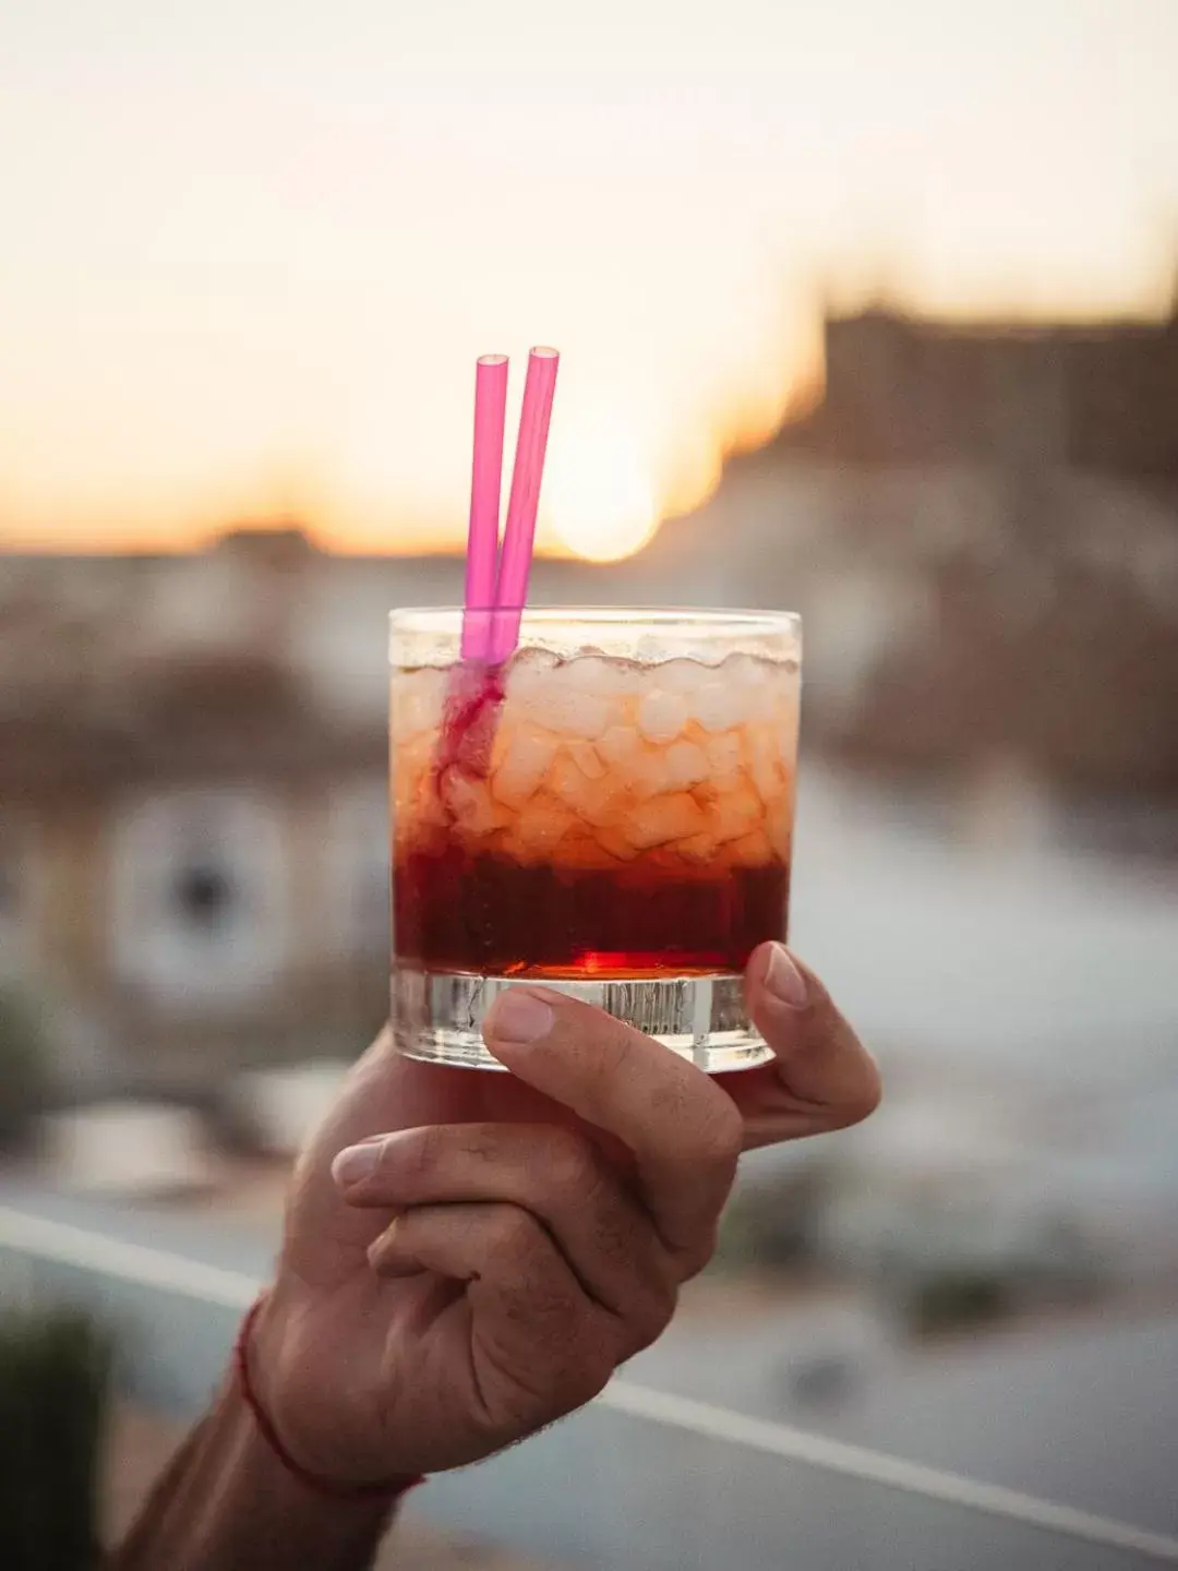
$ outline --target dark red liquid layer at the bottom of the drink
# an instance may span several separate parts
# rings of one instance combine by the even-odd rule
[[[658,853],[617,872],[521,866],[493,853],[405,850],[393,877],[397,960],[490,976],[685,976],[740,971],[785,936],[790,870],[683,877]]]

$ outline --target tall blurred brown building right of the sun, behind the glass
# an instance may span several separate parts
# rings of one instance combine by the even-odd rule
[[[799,610],[804,732],[856,767],[1018,776],[1090,826],[1090,801],[1178,801],[1178,305],[1090,327],[867,311],[825,347],[818,405],[650,564],[710,558],[719,599]],[[1154,829],[1121,820],[1142,847]]]

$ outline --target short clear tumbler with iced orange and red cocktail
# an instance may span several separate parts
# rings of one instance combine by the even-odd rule
[[[391,621],[402,1051],[498,1067],[485,1010],[542,982],[705,1070],[760,1062],[741,971],[785,935],[798,619],[526,610],[501,665],[459,658],[462,622]]]

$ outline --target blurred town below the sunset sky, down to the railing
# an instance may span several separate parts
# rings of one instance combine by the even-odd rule
[[[298,520],[3,559],[19,1181],[273,1207],[385,1009],[385,617],[460,591],[455,558]],[[1178,1530],[1156,1467],[1051,1441],[1178,1425],[1178,295],[832,317],[812,407],[638,555],[539,561],[534,599],[803,613],[792,936],[886,1073],[865,1128],[749,1164],[646,1378],[980,1477],[1018,1452],[1021,1488]],[[944,1452],[963,1390],[985,1417]]]

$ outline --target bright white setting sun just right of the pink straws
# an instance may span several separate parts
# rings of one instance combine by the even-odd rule
[[[650,463],[616,408],[573,412],[553,432],[543,489],[551,533],[584,561],[633,556],[658,529]]]

